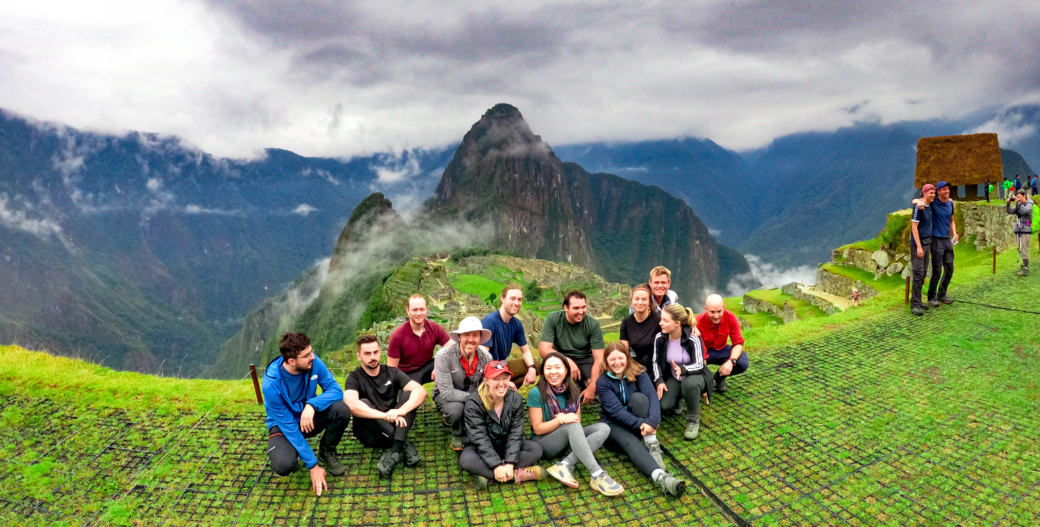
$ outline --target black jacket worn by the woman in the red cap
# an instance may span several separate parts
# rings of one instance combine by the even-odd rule
[[[494,409],[484,409],[480,394],[469,394],[463,416],[466,444],[476,449],[488,467],[516,465],[520,460],[524,414],[523,396],[516,390],[505,392],[501,419]]]

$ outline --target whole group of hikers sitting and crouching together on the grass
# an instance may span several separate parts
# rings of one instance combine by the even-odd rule
[[[695,315],[678,304],[671,271],[655,267],[647,284],[632,289],[620,340],[604,345],[586,295],[568,291],[563,310],[542,324],[540,362],[517,317],[522,288],[506,286],[499,300],[498,310],[483,319],[467,317],[448,333],[426,319],[425,299],[413,295],[408,321],[387,344],[386,364],[379,340],[359,336],[361,366],[342,389],[306,335],[283,335],[281,354],[267,365],[263,379],[272,470],[285,476],[302,460],[320,495],[328,489],[327,472],[345,472],[336,447],[352,417],[358,441],[384,450],[376,463],[381,476],[389,477],[399,463],[415,466],[421,455],[409,433],[427,398],[422,385],[433,383],[433,401],[450,429],[450,447],[478,489],[538,480],[544,473],[578,488],[575,469],[581,465],[592,489],[617,496],[624,488],[596,458],[606,446],[626,454],[662,492],[682,496],[686,482],[668,472],[657,436],[662,413],[685,414],[683,436],[696,439],[702,399],[709,403],[713,393],[729,389],[729,377],[748,369],[739,323],[723,298],[708,296],[704,313]],[[514,345],[521,357],[510,360]],[[707,365],[719,369],[712,373]],[[528,385],[534,386],[525,399],[518,388]],[[599,421],[583,426],[582,404],[595,398]],[[307,439],[319,433],[314,453]],[[558,460],[543,471],[543,457]]]

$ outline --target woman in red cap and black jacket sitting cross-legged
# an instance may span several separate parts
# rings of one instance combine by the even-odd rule
[[[505,363],[492,361],[484,368],[484,380],[464,404],[466,446],[459,467],[476,476],[476,488],[491,481],[518,484],[542,479],[542,447],[523,438],[523,396],[510,388]]]

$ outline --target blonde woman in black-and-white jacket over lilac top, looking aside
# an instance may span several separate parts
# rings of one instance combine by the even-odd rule
[[[706,367],[707,350],[700,337],[691,335],[697,324],[694,312],[670,304],[660,313],[660,333],[653,346],[653,383],[657,386],[660,410],[681,413],[679,396],[686,403],[686,429],[682,437],[697,439],[701,430],[701,394],[711,396],[711,371]]]

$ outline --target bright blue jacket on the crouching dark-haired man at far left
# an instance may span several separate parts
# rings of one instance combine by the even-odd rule
[[[304,433],[300,431],[300,414],[304,411],[304,405],[310,404],[314,410],[321,412],[332,403],[343,400],[343,389],[336,383],[336,378],[329,372],[329,368],[317,357],[311,364],[311,371],[307,373],[304,380],[304,393],[306,399],[292,400],[282,375],[289,372],[282,368],[284,360],[279,357],[267,364],[263,372],[263,405],[267,410],[267,429],[278,426],[282,430],[285,439],[289,440],[292,447],[296,449],[296,454],[304,462],[308,469],[313,469],[318,459],[314,456],[314,451],[304,439]],[[321,395],[317,394],[317,388],[321,387]]]

